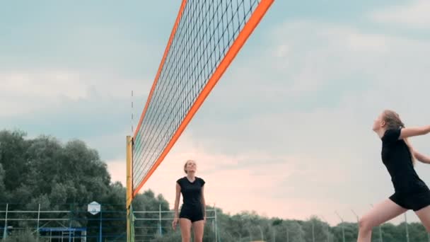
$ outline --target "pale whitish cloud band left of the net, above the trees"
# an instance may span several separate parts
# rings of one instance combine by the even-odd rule
[[[122,79],[115,74],[88,74],[61,69],[0,72],[0,83],[0,117],[45,112],[47,107],[50,110],[62,108],[65,101],[90,98],[131,102],[132,91],[134,111],[140,112],[151,85],[151,81]]]

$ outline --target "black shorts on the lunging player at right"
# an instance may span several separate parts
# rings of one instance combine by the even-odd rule
[[[418,192],[395,192],[390,200],[405,209],[418,211],[430,205],[430,190],[425,189]]]

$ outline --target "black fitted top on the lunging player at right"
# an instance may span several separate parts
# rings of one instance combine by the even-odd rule
[[[401,129],[388,129],[382,137],[382,161],[390,173],[395,192],[420,192],[427,188],[412,164],[409,147],[399,139]]]

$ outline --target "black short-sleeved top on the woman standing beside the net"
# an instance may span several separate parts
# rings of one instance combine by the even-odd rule
[[[205,183],[202,178],[195,177],[194,181],[190,182],[185,176],[176,182],[180,185],[183,206],[202,205],[202,187]]]

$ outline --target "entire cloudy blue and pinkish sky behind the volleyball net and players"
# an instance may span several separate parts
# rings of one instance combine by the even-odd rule
[[[124,184],[126,136],[179,6],[2,3],[0,129],[81,139]],[[356,221],[351,209],[361,216],[393,193],[374,118],[388,108],[407,126],[429,125],[429,12],[427,0],[274,1],[143,190],[173,207],[194,159],[207,203],[224,212]],[[430,155],[429,140],[411,141]],[[430,166],[416,169],[430,184]]]

